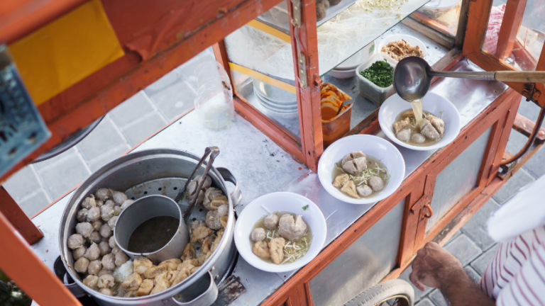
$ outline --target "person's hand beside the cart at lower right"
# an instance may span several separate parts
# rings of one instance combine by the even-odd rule
[[[455,283],[453,280],[460,273],[465,274],[465,271],[456,256],[439,244],[428,242],[418,250],[409,280],[421,291],[426,290],[424,285],[442,290],[448,283]]]

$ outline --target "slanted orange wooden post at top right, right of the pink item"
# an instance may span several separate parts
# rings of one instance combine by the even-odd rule
[[[522,23],[526,3],[527,0],[507,1],[500,33],[497,35],[496,56],[500,60],[505,60],[513,50],[514,40],[517,39],[517,32],[519,31],[520,23]]]

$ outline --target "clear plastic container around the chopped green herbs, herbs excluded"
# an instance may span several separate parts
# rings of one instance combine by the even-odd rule
[[[384,102],[388,97],[392,96],[392,94],[395,94],[394,86],[390,85],[385,88],[376,86],[375,84],[373,84],[373,82],[365,79],[360,74],[360,72],[365,71],[365,69],[368,69],[374,62],[377,62],[378,60],[386,60],[388,64],[390,64],[394,68],[397,64],[395,60],[392,60],[392,58],[388,57],[387,55],[383,55],[382,53],[376,54],[371,57],[368,62],[365,62],[358,66],[358,68],[356,68],[356,76],[358,77],[360,96],[363,96],[363,98],[368,98],[370,101],[373,102],[373,104],[375,104],[375,106],[380,107],[380,105],[382,105],[382,102]]]

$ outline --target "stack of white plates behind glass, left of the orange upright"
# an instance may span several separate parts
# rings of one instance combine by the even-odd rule
[[[297,116],[297,96],[272,86],[259,79],[253,79],[253,92],[259,98],[263,108],[282,117]]]

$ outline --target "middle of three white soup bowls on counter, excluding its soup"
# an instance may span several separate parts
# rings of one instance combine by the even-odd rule
[[[362,151],[366,155],[380,159],[390,173],[390,181],[373,197],[351,198],[333,186],[335,163],[353,151]],[[318,178],[326,191],[343,202],[353,204],[370,204],[387,198],[400,187],[404,177],[405,162],[400,150],[387,140],[373,135],[352,135],[337,140],[321,155],[318,163]]]

